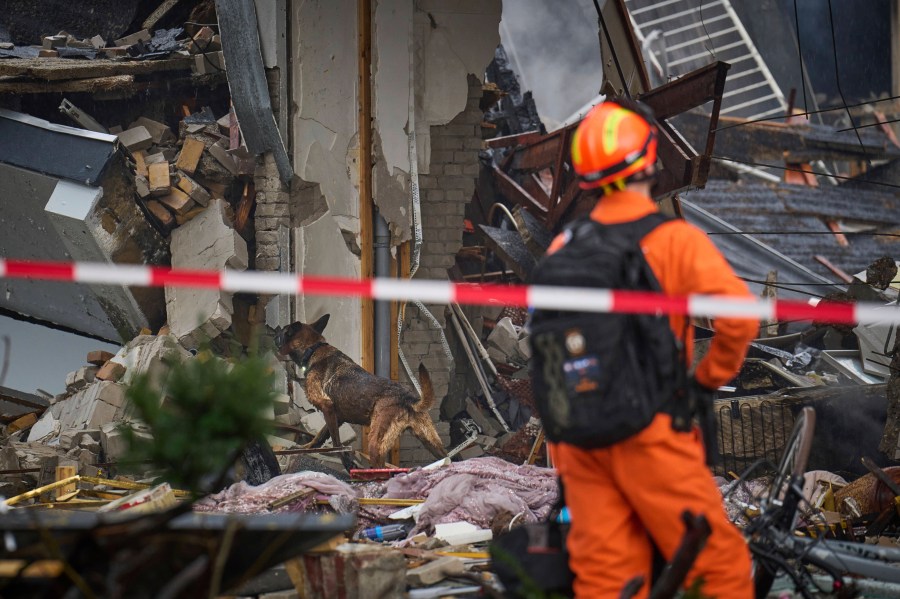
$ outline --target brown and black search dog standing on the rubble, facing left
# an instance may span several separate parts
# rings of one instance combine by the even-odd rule
[[[275,331],[275,344],[282,356],[290,356],[304,376],[302,384],[310,403],[325,415],[325,426],[307,448],[322,445],[330,436],[341,444],[342,422],[369,426],[368,453],[372,467],[384,466],[385,456],[407,428],[438,459],[447,455],[428,410],[434,405],[434,387],[424,364],[419,365],[422,395],[407,386],[365,371],[322,336],[329,314],[312,324],[295,322]],[[348,470],[353,461],[342,454]]]

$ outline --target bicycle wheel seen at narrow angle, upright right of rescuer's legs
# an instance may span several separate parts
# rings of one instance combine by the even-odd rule
[[[806,472],[806,462],[812,449],[816,428],[816,412],[810,407],[800,410],[794,428],[784,447],[778,470],[769,486],[769,492],[760,504],[760,528],[771,526],[791,533],[797,525],[797,508],[802,499],[799,485]],[[764,532],[764,531],[763,531]],[[765,538],[764,535],[763,539]],[[771,543],[759,539],[751,541],[753,556],[753,585],[756,599],[764,599],[772,588],[778,564],[761,554],[771,552]]]

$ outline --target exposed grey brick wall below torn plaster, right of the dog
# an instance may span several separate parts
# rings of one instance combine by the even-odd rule
[[[419,176],[422,205],[422,253],[417,278],[447,279],[447,269],[454,265],[462,246],[463,217],[466,205],[475,191],[478,176],[478,151],[482,147],[480,125],[484,113],[479,109],[481,82],[469,75],[466,108],[456,118],[440,127],[431,128],[431,164],[429,174]],[[439,331],[430,320],[409,306],[406,310],[401,346],[413,372],[420,362],[431,374],[437,402],[431,411],[438,423],[444,446],[450,442],[449,425],[440,420],[440,403],[448,393],[455,397],[464,393],[459,374],[468,368],[465,352],[458,347],[452,324],[444,317],[444,306],[427,306],[444,328],[456,363],[444,354]],[[402,370],[402,369],[401,369]],[[402,373],[401,378],[405,378]],[[409,432],[400,440],[400,461],[404,466],[428,464],[434,457]]]

